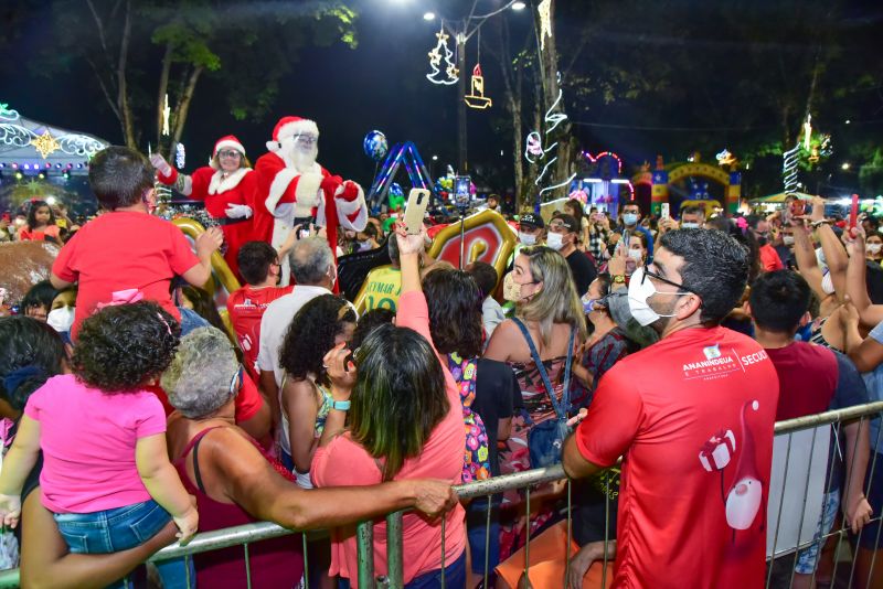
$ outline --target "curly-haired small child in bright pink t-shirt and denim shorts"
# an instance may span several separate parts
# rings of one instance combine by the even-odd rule
[[[198,514],[166,449],[166,414],[145,385],[168,367],[179,326],[153,302],[106,307],[81,329],[74,374],[28,399],[0,473],[0,514],[15,526],[20,494],[43,450],[43,505],[72,553],[105,554],[147,542],[174,520],[178,537]]]

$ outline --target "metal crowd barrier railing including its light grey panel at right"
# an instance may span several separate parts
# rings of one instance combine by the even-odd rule
[[[876,563],[875,551],[871,557],[870,569],[868,570],[866,578],[859,578],[858,570],[857,570],[857,558],[853,556],[851,560],[844,557],[844,554],[849,551],[850,544],[849,544],[849,526],[845,522],[843,522],[840,526],[832,526],[830,531],[822,531],[821,534],[817,533],[817,528],[819,527],[819,520],[821,514],[821,508],[823,505],[819,504],[819,495],[829,494],[832,490],[833,478],[831,474],[834,470],[834,461],[828,460],[829,449],[833,452],[839,452],[839,448],[843,446],[842,440],[844,435],[849,437],[849,431],[844,432],[844,424],[849,424],[845,426],[845,429],[849,430],[851,426],[858,422],[859,431],[862,428],[870,429],[870,424],[872,420],[876,419],[880,422],[880,416],[883,414],[883,401],[870,403],[866,405],[849,407],[845,409],[826,411],[818,415],[810,415],[805,417],[798,417],[796,419],[789,419],[787,421],[779,421],[775,426],[775,435],[776,435],[776,449],[774,451],[774,472],[773,479],[776,479],[777,475],[780,475],[781,491],[780,493],[775,496],[774,491],[776,490],[776,484],[778,480],[773,480],[770,482],[770,492],[768,497],[768,507],[772,510],[767,516],[767,527],[768,531],[768,542],[767,542],[767,561],[768,561],[768,570],[767,570],[767,580],[766,587],[767,588],[779,588],[779,587],[791,587],[795,580],[795,566],[791,566],[789,563],[796,563],[798,559],[798,555],[800,555],[807,548],[811,548],[813,546],[819,546],[819,553],[821,553],[821,546],[826,543],[836,543],[836,558],[833,561],[833,570],[831,571],[831,577],[839,580],[839,585],[837,587],[857,587],[860,589],[870,588],[871,585],[871,576],[874,574],[874,567],[883,566],[883,563]],[[874,451],[875,448],[880,446],[881,433],[880,426],[876,427],[875,436],[870,439],[870,447],[871,453],[868,461],[868,476],[866,480],[869,481],[868,484],[870,485],[870,481],[872,480],[873,472],[875,469],[883,468],[883,463],[877,463],[877,453]],[[830,430],[830,435],[826,436]],[[820,436],[820,433],[822,433]],[[799,436],[799,437],[798,437]],[[826,438],[830,438],[833,447],[829,447],[825,441]],[[781,448],[784,447],[784,450]],[[859,458],[855,452],[855,447],[853,446],[852,451],[847,448],[847,454],[842,457],[842,461],[845,462],[845,459],[849,454],[853,456],[853,460]],[[780,469],[776,469],[776,460],[780,459],[780,453],[784,452],[784,461],[781,461],[783,467]],[[822,468],[819,468],[819,461],[821,458],[825,458],[825,464]],[[801,460],[797,460],[797,459]],[[813,464],[815,462],[815,464]],[[817,486],[817,480],[819,476],[819,472],[822,472],[822,480],[826,482],[826,486]],[[827,475],[826,475],[827,474]],[[487,500],[487,524],[485,531],[485,542],[486,542],[486,549],[483,551],[486,561],[483,563],[483,578],[485,578],[485,587],[488,586],[488,577],[490,574],[489,569],[492,569],[492,564],[488,563],[488,544],[491,542],[490,538],[490,523],[491,523],[491,513],[492,513],[492,497],[499,493],[512,490],[524,490],[524,514],[528,518],[526,524],[526,539],[523,547],[524,553],[524,572],[523,578],[520,579],[520,582],[523,582],[524,579],[530,579],[530,569],[531,569],[531,560],[530,560],[530,549],[531,549],[531,542],[530,542],[530,514],[531,514],[531,489],[543,483],[550,483],[554,481],[561,481],[565,479],[563,468],[558,465],[549,467],[545,469],[535,469],[525,472],[518,472],[514,474],[506,474],[502,476],[494,476],[491,479],[487,479],[483,481],[476,481],[467,484],[462,484],[456,488],[458,495],[462,500],[471,499],[474,501],[478,501],[480,497],[485,497]],[[606,479],[606,518],[605,524],[609,524],[609,514],[611,510],[610,505],[610,496],[611,490],[609,488],[610,479]],[[844,489],[841,490],[841,496],[847,496],[849,494],[849,481],[843,483],[845,485]],[[795,486],[796,485],[796,486]],[[787,496],[787,493],[791,492],[794,489],[802,488],[802,496],[799,497],[790,497]],[[823,493],[821,491],[825,491]],[[870,495],[871,489],[870,486],[865,486],[864,494]],[[880,491],[877,491],[880,493]],[[574,555],[571,554],[571,538],[573,537],[572,533],[572,521],[571,521],[571,507],[572,507],[572,488],[571,481],[566,482],[566,493],[565,496],[562,497],[563,501],[566,501],[566,529],[567,529],[567,549],[566,554],[564,555],[564,578],[562,579],[562,587],[565,587],[568,581],[570,575],[570,564],[571,559]],[[788,505],[797,505],[798,514],[797,514],[797,534],[792,538],[785,538],[786,534],[783,529],[783,525],[794,524],[794,514],[783,514],[783,507]],[[774,508],[775,507],[775,508]],[[842,508],[839,510],[842,513]],[[387,546],[386,546],[386,555],[387,555],[387,574],[385,576],[376,576],[374,570],[374,558],[373,558],[373,522],[362,522],[357,527],[357,536],[358,536],[358,556],[359,556],[359,586],[365,589],[373,589],[373,588],[390,588],[390,589],[401,589],[404,587],[403,582],[403,545],[402,545],[402,512],[396,512],[389,514],[386,516],[386,525],[387,525]],[[871,527],[876,527],[875,537],[873,542],[873,546],[877,546],[881,543],[881,531],[883,531],[883,524],[881,523],[882,514],[875,513],[870,523],[865,525],[865,529]],[[770,525],[773,524],[773,525]],[[877,524],[875,526],[875,524]],[[606,587],[606,578],[607,578],[607,570],[608,567],[613,566],[613,559],[608,555],[608,547],[609,540],[614,539],[615,529],[610,529],[609,525],[605,525],[606,534],[605,534],[605,547],[604,547],[604,558],[602,561],[603,572],[602,572],[602,585],[600,587]],[[791,531],[790,533],[792,533]],[[246,572],[248,576],[248,587],[251,588],[251,569],[249,569],[249,558],[248,558],[248,547],[252,544],[257,542],[263,542],[272,538],[277,538],[280,536],[297,534],[298,531],[288,529],[280,527],[276,524],[260,522],[254,524],[246,524],[242,526],[235,526],[224,529],[217,529],[213,532],[203,532],[198,534],[187,546],[180,546],[178,544],[167,546],[162,548],[158,553],[156,553],[149,561],[162,561],[169,560],[174,558],[182,558],[182,557],[191,557],[195,554],[219,550],[222,548],[228,548],[232,546],[242,546],[244,550],[244,566],[246,567]],[[444,520],[442,523],[442,569],[444,571],[445,563],[444,563],[444,554],[445,554],[445,545],[444,545],[444,537],[445,537],[445,527],[444,527]],[[787,539],[787,542],[786,542]],[[860,536],[861,539],[861,536]],[[305,555],[305,578],[307,578],[309,571],[309,563],[307,561],[307,534],[304,535],[304,555]],[[468,549],[468,548],[467,548]],[[853,550],[854,551],[854,550]],[[845,555],[849,556],[849,555]],[[883,559],[883,558],[881,558]],[[838,568],[842,566],[843,561],[849,564],[850,570],[847,577],[847,585],[842,583],[842,577],[837,577]],[[816,581],[818,567],[816,567],[812,571],[812,581]],[[842,572],[842,569],[841,569]],[[10,569],[6,571],[0,571],[0,589],[4,588],[12,588],[19,587],[19,569]],[[787,581],[786,581],[787,578]],[[444,581],[444,572],[442,579],[442,586],[445,587]],[[309,587],[309,585],[308,585]]]

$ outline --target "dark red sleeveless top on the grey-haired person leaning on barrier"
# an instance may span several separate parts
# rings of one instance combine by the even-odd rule
[[[238,505],[221,503],[205,494],[199,470],[199,445],[206,433],[217,429],[217,427],[208,428],[196,433],[188,443],[181,458],[173,462],[184,489],[196,497],[196,510],[200,513],[200,532],[212,532],[257,522]],[[291,473],[285,467],[272,459],[257,441],[251,437],[248,437],[248,440],[254,443],[255,448],[279,474],[294,483]],[[187,458],[191,451],[193,452],[195,484],[187,473]],[[248,557],[252,569],[252,587],[255,589],[296,587],[304,576],[301,547],[302,539],[300,534],[249,544]],[[193,563],[196,567],[196,583],[200,587],[226,587],[230,589],[244,589],[247,587],[245,550],[242,546],[193,555]]]

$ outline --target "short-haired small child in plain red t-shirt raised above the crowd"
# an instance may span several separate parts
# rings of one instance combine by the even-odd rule
[[[177,320],[169,294],[174,276],[202,287],[212,276],[212,254],[223,234],[211,228],[196,238],[194,255],[184,234],[150,215],[156,207],[153,167],[142,154],[109,147],[89,163],[89,186],[107,212],[84,225],[58,253],[50,277],[58,290],[78,283],[72,336],[100,304],[158,302]]]

